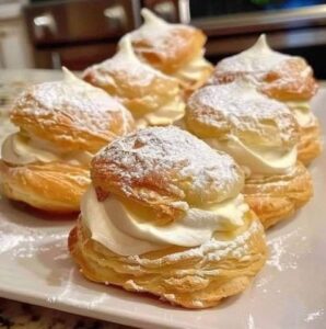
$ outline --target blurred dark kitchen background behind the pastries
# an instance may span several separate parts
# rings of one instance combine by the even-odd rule
[[[326,79],[326,0],[0,0],[0,68],[84,69],[115,53],[142,7],[202,29],[212,63],[265,32]]]

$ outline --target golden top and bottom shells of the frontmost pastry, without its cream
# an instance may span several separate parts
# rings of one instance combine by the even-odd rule
[[[175,147],[176,140],[179,147]],[[193,155],[188,152],[189,148],[193,148]],[[201,152],[205,149],[213,160],[220,158],[222,163],[210,161],[208,155]],[[196,137],[175,127],[147,128],[117,139],[96,155],[91,173],[97,202],[123,195],[131,198],[136,206],[153,207],[158,217],[171,216],[164,204],[166,197],[171,203],[171,195],[174,197],[172,203],[200,206],[234,197],[243,185],[243,174],[229,156],[212,151]],[[190,184],[185,184],[184,180]],[[223,180],[229,185],[226,192]],[[140,189],[143,189],[141,197]],[[202,197],[197,194],[199,189],[205,192]],[[206,193],[205,189],[209,191]],[[213,200],[210,192],[213,192]],[[266,261],[264,229],[248,208],[242,225],[228,232],[216,232],[200,246],[163,246],[141,254],[125,256],[94,238],[86,225],[86,215],[82,207],[68,240],[70,253],[82,274],[91,281],[118,285],[127,291],[148,292],[183,307],[211,307],[220,299],[242,292]],[[164,226],[171,220],[179,222],[182,217],[159,224],[151,219],[150,224]]]

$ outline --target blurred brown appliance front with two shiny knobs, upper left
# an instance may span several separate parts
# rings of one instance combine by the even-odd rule
[[[112,56],[140,24],[138,0],[37,2],[24,12],[38,68],[83,69]]]

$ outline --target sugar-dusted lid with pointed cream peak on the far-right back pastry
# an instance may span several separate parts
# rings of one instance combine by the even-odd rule
[[[280,101],[310,100],[318,89],[305,59],[272,50],[265,34],[252,48],[218,63],[209,83],[229,83],[244,76],[253,78],[259,91]]]

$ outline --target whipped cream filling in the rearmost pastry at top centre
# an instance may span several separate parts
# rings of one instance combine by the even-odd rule
[[[173,76],[184,80],[198,81],[202,78],[202,71],[210,68],[211,64],[203,58],[202,50],[198,57],[194,58],[186,66],[178,69],[173,73]]]

